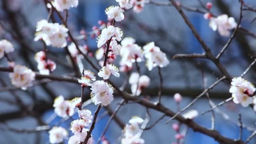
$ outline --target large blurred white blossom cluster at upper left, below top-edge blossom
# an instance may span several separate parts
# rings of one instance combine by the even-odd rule
[[[64,25],[58,23],[48,23],[43,19],[37,22],[35,41],[43,40],[46,45],[64,48],[67,46],[68,29]]]

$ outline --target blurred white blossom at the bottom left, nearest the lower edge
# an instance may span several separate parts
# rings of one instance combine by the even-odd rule
[[[53,127],[49,131],[49,139],[51,144],[58,144],[68,136],[68,132],[65,128],[62,127]]]

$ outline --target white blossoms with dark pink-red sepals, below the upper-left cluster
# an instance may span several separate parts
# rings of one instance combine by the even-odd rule
[[[46,60],[46,54],[44,51],[39,51],[35,54],[35,61],[37,61],[37,69],[39,69],[40,74],[49,75],[56,69],[55,62],[50,59]]]

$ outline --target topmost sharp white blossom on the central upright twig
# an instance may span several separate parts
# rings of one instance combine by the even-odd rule
[[[109,19],[115,19],[115,21],[122,21],[125,18],[123,10],[119,6],[110,6],[105,12]]]

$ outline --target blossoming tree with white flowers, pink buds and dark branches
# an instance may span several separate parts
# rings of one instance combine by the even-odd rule
[[[10,131],[20,132],[36,132],[36,131],[48,131],[48,138],[51,144],[61,143],[64,139],[68,139],[68,144],[109,144],[108,139],[104,137],[109,124],[112,120],[123,129],[120,133],[121,139],[118,141],[121,144],[147,144],[147,139],[142,139],[141,134],[150,130],[164,117],[170,117],[165,123],[168,125],[169,121],[176,120],[178,123],[173,123],[171,127],[176,135],[173,136],[176,139],[175,144],[183,144],[186,133],[181,133],[181,125],[186,125],[186,128],[191,128],[193,131],[203,133],[212,137],[221,144],[243,144],[248,143],[255,135],[256,131],[249,136],[246,141],[242,141],[241,136],[243,127],[247,128],[241,121],[239,115],[240,134],[238,139],[230,139],[224,135],[221,135],[215,129],[214,112],[218,107],[226,104],[229,101],[233,101],[235,104],[240,104],[242,107],[246,107],[248,110],[252,109],[256,111],[256,96],[254,92],[256,88],[252,84],[251,80],[245,80],[243,77],[253,67],[256,59],[248,66],[247,69],[240,76],[232,76],[227,71],[226,67],[221,63],[220,57],[227,50],[228,46],[234,39],[238,32],[244,32],[252,37],[256,37],[252,32],[245,29],[241,25],[243,18],[243,11],[256,11],[256,8],[246,4],[243,0],[235,0],[235,3],[240,4],[240,16],[239,19],[235,19],[227,14],[215,15],[211,12],[213,4],[200,2],[202,8],[193,8],[183,5],[182,3],[169,0],[166,2],[157,2],[152,0],[113,0],[115,5],[106,8],[105,13],[108,21],[99,21],[99,27],[94,26],[91,32],[85,32],[81,30],[80,36],[75,36],[68,24],[68,12],[69,9],[75,9],[79,5],[79,0],[42,0],[45,3],[45,7],[48,10],[48,17],[39,20],[34,26],[35,28],[35,43],[42,43],[43,49],[35,51],[26,42],[22,40],[22,32],[16,28],[16,17],[8,7],[8,0],[3,0],[3,9],[8,13],[11,22],[11,27],[14,29],[14,33],[9,30],[5,23],[0,23],[1,27],[11,34],[12,39],[6,40],[3,38],[0,40],[0,59],[7,59],[8,66],[0,67],[1,72],[9,73],[9,80],[13,87],[4,87],[1,91],[13,90],[20,88],[24,91],[32,89],[33,86],[50,83],[53,81],[65,81],[69,83],[76,83],[81,88],[79,97],[72,96],[72,99],[65,99],[65,93],[60,96],[56,96],[51,105],[54,108],[54,113],[57,117],[61,117],[63,121],[72,119],[70,128],[65,129],[60,125],[49,126],[48,122],[40,119],[40,117],[31,108],[27,107],[27,104],[20,99],[14,92],[15,102],[9,101],[9,103],[17,104],[27,115],[32,115],[40,123],[33,130],[19,130],[16,128],[6,126]],[[163,81],[165,80],[162,75],[162,69],[170,64],[171,57],[168,53],[165,53],[162,48],[158,47],[155,42],[148,41],[145,45],[136,43],[133,37],[127,37],[119,24],[123,22],[126,11],[133,11],[134,13],[141,13],[146,5],[153,4],[155,6],[173,6],[181,15],[184,22],[187,24],[192,34],[196,37],[200,45],[204,49],[204,53],[193,54],[175,54],[172,59],[186,58],[186,59],[208,59],[219,69],[221,77],[217,77],[217,81],[208,88],[205,86],[205,90],[196,96],[186,107],[180,109],[179,104],[182,103],[182,96],[176,93],[171,100],[174,100],[177,104],[178,111],[166,107],[162,100]],[[202,17],[209,21],[209,27],[213,31],[218,31],[222,37],[229,37],[227,43],[223,46],[221,51],[215,56],[205,43],[202,37],[199,35],[193,24],[189,21],[184,11],[194,11],[201,13]],[[238,10],[237,10],[238,11]],[[56,21],[60,19],[60,22]],[[205,27],[208,27],[206,25]],[[97,51],[94,53],[88,48],[87,45],[79,45],[81,40],[86,40],[88,36],[95,38],[97,42]],[[82,37],[82,38],[81,38]],[[35,62],[37,63],[37,70],[32,70],[20,64],[20,61],[13,61],[9,56],[10,53],[15,53],[15,45],[12,44],[15,40],[21,44],[21,46],[31,48],[34,50]],[[61,63],[61,60],[51,55],[49,48],[59,48],[61,51],[65,51],[69,69],[72,69],[73,73],[70,75],[55,75],[54,70]],[[88,62],[91,68],[85,67],[83,62]],[[61,63],[63,64],[63,62]],[[64,65],[66,63],[64,62]],[[153,69],[157,69],[159,75],[159,89],[158,100],[151,101],[148,97],[143,96],[143,92],[147,87],[152,85],[150,77],[141,73],[141,66],[147,68],[149,72]],[[111,80],[111,77],[120,79],[120,75],[125,74],[127,80],[124,80],[123,85],[117,85]],[[157,78],[158,79],[158,78]],[[121,79],[120,79],[121,80]],[[122,81],[122,80],[121,80]],[[209,96],[208,92],[218,85],[221,81],[230,85],[228,99],[214,104]],[[4,82],[3,82],[4,83]],[[60,82],[59,82],[60,83]],[[61,84],[61,83],[60,83]],[[129,85],[129,91],[126,87]],[[85,89],[90,91],[90,95],[85,94]],[[115,111],[110,109],[109,105],[115,99],[115,96],[121,96],[122,101],[118,104]],[[209,103],[209,110],[206,110],[200,114],[196,109],[192,109],[191,106],[201,97],[207,96]],[[0,99],[2,100],[2,99]],[[170,100],[170,101],[171,101]],[[4,101],[4,99],[3,99]],[[5,100],[8,102],[8,100]],[[92,112],[87,108],[88,103],[95,105],[96,111]],[[141,107],[147,108],[147,114],[131,116],[131,119],[121,121],[117,117],[117,112],[123,105],[129,103],[138,103]],[[99,139],[94,139],[92,132],[97,128],[97,120],[99,120],[99,111],[102,107],[106,108],[109,114],[109,120],[105,125],[104,131],[102,131]],[[155,123],[148,125],[149,120],[154,115],[150,115],[149,110],[154,109],[163,114]],[[184,112],[186,111],[186,112]],[[206,128],[196,123],[193,119],[199,117],[205,113],[212,113],[212,128]],[[73,119],[72,116],[78,114],[77,119]],[[255,113],[252,111],[252,115]],[[126,124],[124,124],[126,123]],[[252,129],[252,128],[251,128]],[[68,131],[72,132],[72,135],[68,135]],[[166,143],[170,143],[167,141]]]

